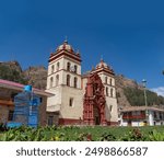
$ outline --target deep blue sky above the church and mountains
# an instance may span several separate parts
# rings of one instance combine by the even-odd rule
[[[47,67],[67,35],[83,71],[103,55],[116,73],[164,87],[163,7],[162,0],[0,1],[0,60]]]

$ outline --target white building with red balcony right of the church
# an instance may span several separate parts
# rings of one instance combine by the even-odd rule
[[[157,107],[130,106],[120,110],[121,126],[164,125],[164,110]]]

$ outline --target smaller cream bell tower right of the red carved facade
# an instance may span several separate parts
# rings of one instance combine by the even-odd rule
[[[103,60],[96,66],[92,72],[96,72],[104,85],[104,94],[106,100],[106,121],[107,125],[117,125],[118,123],[118,111],[117,111],[117,98],[116,98],[116,85],[115,85],[115,72],[114,70]]]

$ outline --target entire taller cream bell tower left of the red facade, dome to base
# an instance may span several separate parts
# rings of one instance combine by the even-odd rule
[[[73,124],[82,117],[81,61],[67,41],[50,54],[47,91],[55,96],[48,98],[47,111],[59,113],[59,124]]]

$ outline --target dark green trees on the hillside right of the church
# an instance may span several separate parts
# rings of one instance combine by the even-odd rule
[[[134,89],[134,88],[125,88],[124,92],[130,105],[132,106],[145,105],[143,90]],[[147,90],[147,99],[148,99],[149,106],[164,105],[164,98],[157,96],[157,94],[152,91]]]

